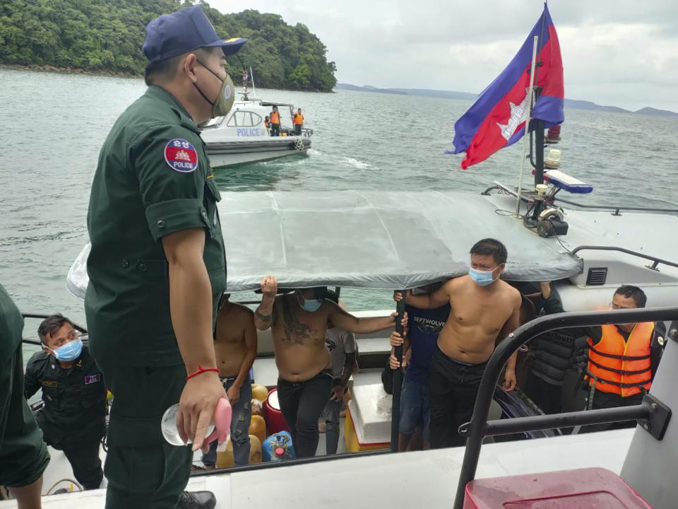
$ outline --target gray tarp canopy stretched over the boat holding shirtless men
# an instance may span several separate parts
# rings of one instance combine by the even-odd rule
[[[413,288],[465,274],[470,247],[486,237],[509,250],[506,279],[581,271],[557,239],[540,238],[480,194],[224,192],[219,213],[230,292],[259,288],[266,274],[282,288]],[[80,258],[69,289],[83,296],[85,250]]]

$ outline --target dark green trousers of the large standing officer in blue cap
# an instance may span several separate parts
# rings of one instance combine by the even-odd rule
[[[179,402],[184,365],[140,367],[97,358],[113,394],[108,428],[106,509],[174,509],[191,473],[191,447],[169,445],[160,421]]]

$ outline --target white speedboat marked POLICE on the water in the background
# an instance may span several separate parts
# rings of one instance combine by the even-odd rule
[[[295,136],[292,125],[293,106],[254,97],[245,88],[239,93],[228,115],[211,119],[202,128],[207,155],[213,168],[261,163],[263,161],[305,154],[311,147],[313,129],[302,129]],[[264,119],[273,106],[280,112],[280,136],[270,136]],[[289,112],[289,115],[286,113]],[[289,125],[285,122],[290,122]]]

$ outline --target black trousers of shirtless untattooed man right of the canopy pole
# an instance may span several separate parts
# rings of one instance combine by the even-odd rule
[[[466,439],[458,429],[471,420],[486,364],[459,363],[439,348],[434,350],[429,373],[432,448],[464,445]]]

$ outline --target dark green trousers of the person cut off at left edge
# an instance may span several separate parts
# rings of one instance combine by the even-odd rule
[[[47,445],[23,397],[21,344],[0,359],[0,485],[23,488],[40,479],[49,463]]]

